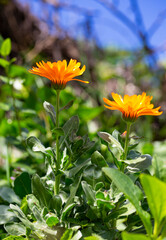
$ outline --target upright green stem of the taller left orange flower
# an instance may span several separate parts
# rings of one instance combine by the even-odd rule
[[[56,95],[56,127],[59,127],[59,96],[60,96],[60,90],[57,90]],[[60,170],[60,155],[59,155],[59,136],[56,137],[56,173]],[[59,185],[60,185],[60,174],[55,176],[55,188],[54,193],[55,195],[59,194]]]

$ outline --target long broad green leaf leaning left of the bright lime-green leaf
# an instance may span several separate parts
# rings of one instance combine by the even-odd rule
[[[113,168],[103,168],[103,172],[114,182],[114,184],[118,187],[120,191],[122,191],[126,197],[130,200],[130,202],[135,206],[147,233],[150,235],[152,233],[152,225],[150,222],[150,215],[145,212],[141,206],[139,201],[142,199],[143,195],[141,190],[134,185],[132,180],[120,172],[117,169]]]

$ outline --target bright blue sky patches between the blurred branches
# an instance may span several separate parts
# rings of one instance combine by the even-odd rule
[[[53,0],[52,0],[53,1]],[[118,4],[118,8],[130,19],[134,20],[133,10],[131,9],[130,2],[135,0],[107,0]],[[55,30],[54,22],[52,20],[53,9],[46,8],[43,12],[41,0],[20,0],[21,3],[30,6],[31,12],[44,18],[45,13],[48,13],[47,21],[52,26],[52,31]],[[56,2],[56,0],[55,0]],[[91,11],[93,35],[97,36],[98,44],[102,47],[116,46],[124,49],[136,49],[140,47],[140,41],[122,22],[120,22],[110,11],[104,8],[99,0],[59,0],[60,3],[67,3],[85,10]],[[162,21],[161,26],[150,37],[150,45],[158,48],[165,43],[166,45],[166,0],[137,0],[137,3],[142,14],[145,30],[150,29],[152,23],[157,16],[165,10],[165,19]],[[80,26],[85,21],[83,14],[78,14],[77,11],[63,10],[59,12],[60,24],[72,36],[81,38],[83,36],[83,28]],[[166,51],[159,53],[160,59],[166,59]]]

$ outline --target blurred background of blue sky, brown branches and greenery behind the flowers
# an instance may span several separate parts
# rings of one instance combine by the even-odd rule
[[[104,109],[103,97],[145,91],[164,113],[140,117],[133,132],[146,141],[144,152],[153,154],[152,141],[166,136],[165,29],[165,0],[0,0],[0,44],[7,38],[12,43],[9,56],[0,60],[0,141],[16,147],[13,161],[18,149],[26,149],[20,135],[39,137],[46,146],[52,141],[43,102],[55,106],[55,92],[49,80],[27,70],[40,60],[71,58],[86,65],[81,79],[90,84],[71,82],[61,93],[62,107],[74,103],[61,113],[60,124],[78,115],[79,134],[96,141],[97,131],[123,133],[120,113]],[[24,152],[20,161],[26,157]]]

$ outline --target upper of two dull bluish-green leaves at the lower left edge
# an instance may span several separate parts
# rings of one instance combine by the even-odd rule
[[[15,194],[13,189],[9,187],[0,188],[0,197],[4,201],[7,201],[8,203],[17,203],[17,204],[21,203],[19,197]]]

